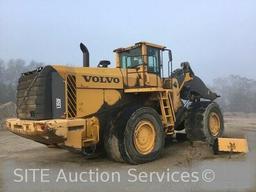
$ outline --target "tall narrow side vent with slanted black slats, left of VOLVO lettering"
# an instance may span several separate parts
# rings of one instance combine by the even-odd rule
[[[67,77],[67,103],[68,118],[76,117],[76,77],[74,75]]]

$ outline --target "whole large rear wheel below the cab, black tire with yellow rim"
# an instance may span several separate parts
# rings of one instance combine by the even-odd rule
[[[165,133],[154,109],[130,107],[116,119],[105,138],[105,150],[111,159],[141,164],[159,157],[164,148]]]

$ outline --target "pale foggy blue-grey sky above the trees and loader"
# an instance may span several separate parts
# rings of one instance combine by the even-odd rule
[[[82,65],[114,64],[113,49],[138,41],[166,45],[174,67],[189,61],[211,81],[229,74],[256,79],[253,0],[0,0],[0,58]]]

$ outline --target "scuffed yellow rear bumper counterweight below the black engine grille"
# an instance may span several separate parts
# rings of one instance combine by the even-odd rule
[[[40,142],[64,142],[68,147],[81,149],[99,142],[100,125],[96,117],[88,119],[20,120],[8,119],[7,128],[20,136]],[[43,128],[43,129],[42,129]]]

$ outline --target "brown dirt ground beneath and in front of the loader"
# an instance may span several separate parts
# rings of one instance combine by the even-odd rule
[[[191,145],[188,141],[171,141],[162,157],[154,162],[132,166],[116,163],[106,157],[86,160],[80,154],[74,154],[63,149],[47,148],[44,145],[21,138],[6,130],[0,131],[0,192],[14,191],[256,191],[256,114],[225,114],[225,136],[246,137],[250,152],[247,154],[213,155],[211,149],[204,143]],[[21,169],[22,181],[14,174]],[[42,174],[36,172],[35,182],[26,169],[47,169],[49,182],[42,182]],[[129,175],[129,170],[139,176],[144,172],[150,175],[157,173],[177,173],[175,181],[159,180],[154,175],[150,180],[131,182],[135,176]],[[136,169],[136,170],[135,170]],[[182,180],[180,173],[193,172],[203,175],[205,170],[212,170],[214,179],[206,182],[200,177],[198,181]],[[56,181],[60,170],[65,174],[98,171],[99,173],[118,172],[120,180],[115,181]],[[17,172],[16,172],[17,173]],[[210,177],[211,175],[208,175]],[[178,181],[177,181],[178,180]]]

